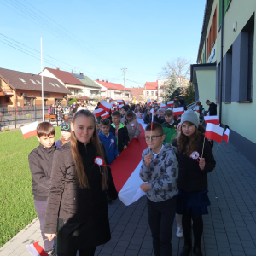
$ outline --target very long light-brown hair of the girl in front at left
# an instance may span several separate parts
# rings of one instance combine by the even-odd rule
[[[72,121],[73,125],[75,125],[76,119],[80,115],[90,117],[93,120],[93,122],[94,122],[94,132],[93,132],[93,135],[92,135],[90,140],[91,140],[91,143],[93,143],[94,147],[96,148],[97,155],[99,157],[101,157],[102,160],[104,160],[104,164],[106,165],[106,160],[105,160],[105,157],[104,157],[103,152],[102,152],[102,146],[101,146],[99,137],[97,135],[96,121],[95,121],[95,117],[94,117],[93,113],[91,113],[89,110],[80,110],[79,112],[75,113],[75,115],[73,116],[73,121]],[[73,156],[73,161],[74,161],[74,164],[76,166],[77,181],[78,181],[79,187],[81,189],[90,189],[90,184],[89,184],[89,181],[88,181],[88,177],[86,175],[86,172],[84,171],[84,167],[86,168],[86,166],[83,165],[82,157],[79,154],[78,140],[75,136],[74,131],[71,131],[70,143],[71,143],[71,152],[72,152],[72,156]],[[107,185],[107,180],[108,180],[107,167],[106,166],[101,166],[101,170],[102,170],[102,190],[106,190],[108,188],[108,185]]]

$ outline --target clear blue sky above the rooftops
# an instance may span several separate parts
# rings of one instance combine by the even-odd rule
[[[143,86],[161,78],[166,61],[183,57],[196,62],[205,3],[3,0],[0,67],[39,73],[42,37],[44,67],[120,84],[126,67],[126,87]]]

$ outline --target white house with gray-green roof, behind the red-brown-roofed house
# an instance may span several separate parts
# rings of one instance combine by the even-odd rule
[[[84,76],[83,73],[72,73],[74,77],[79,79],[84,85],[85,96],[90,99],[90,103],[96,103],[100,101],[101,97],[101,86],[96,84],[89,77]]]

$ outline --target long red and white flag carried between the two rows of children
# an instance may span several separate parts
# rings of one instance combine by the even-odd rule
[[[111,164],[113,182],[119,193],[119,199],[125,206],[140,199],[145,193],[140,188],[143,181],[139,177],[142,166],[142,154],[147,143],[144,140],[146,124],[143,119],[137,119],[141,126],[141,134],[137,139],[132,139],[128,148],[119,154],[119,158]]]

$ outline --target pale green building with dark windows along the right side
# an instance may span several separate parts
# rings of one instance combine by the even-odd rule
[[[230,127],[230,143],[256,166],[256,1],[224,0],[223,25],[221,3],[206,2],[197,64],[191,65],[190,81],[204,108],[208,108],[206,100],[217,103],[221,124]]]

